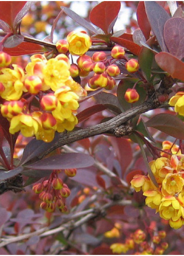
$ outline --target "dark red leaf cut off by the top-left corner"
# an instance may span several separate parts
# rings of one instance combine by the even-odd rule
[[[5,1],[0,3],[0,19],[5,21],[11,29],[14,27],[14,20],[26,1]]]

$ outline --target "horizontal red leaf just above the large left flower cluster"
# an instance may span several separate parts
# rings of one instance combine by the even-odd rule
[[[34,53],[42,53],[45,52],[45,48],[40,46],[36,43],[31,42],[22,42],[19,46],[14,48],[5,48],[3,49],[4,52],[7,52],[11,56],[19,56],[25,54],[34,54]]]

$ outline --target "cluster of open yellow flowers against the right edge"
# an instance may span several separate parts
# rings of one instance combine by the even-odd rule
[[[164,147],[168,148],[168,141]],[[170,142],[171,144],[171,142]],[[135,175],[131,186],[136,192],[143,191],[145,204],[159,212],[161,218],[178,229],[184,224],[184,155],[177,149],[175,154],[157,158],[149,163],[158,184],[156,187],[149,175]],[[177,149],[177,150],[176,150]],[[171,146],[170,146],[171,150]],[[169,157],[167,157],[169,155]]]

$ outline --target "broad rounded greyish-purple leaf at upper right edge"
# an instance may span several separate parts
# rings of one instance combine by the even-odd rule
[[[169,53],[178,59],[184,57],[184,19],[170,18],[164,26],[164,40]]]

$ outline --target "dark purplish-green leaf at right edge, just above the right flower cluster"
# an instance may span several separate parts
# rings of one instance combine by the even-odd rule
[[[184,139],[184,124],[177,116],[158,114],[148,120],[145,125],[163,131],[174,138]]]

